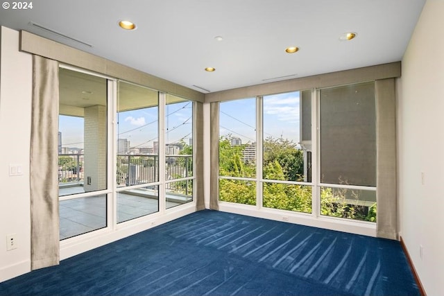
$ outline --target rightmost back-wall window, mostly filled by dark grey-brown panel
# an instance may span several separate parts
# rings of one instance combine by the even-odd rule
[[[375,221],[374,82],[320,91],[321,215]]]

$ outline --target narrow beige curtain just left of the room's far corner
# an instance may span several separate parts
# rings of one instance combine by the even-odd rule
[[[203,182],[203,103],[195,102],[196,107],[196,148],[195,153],[195,174],[196,174],[196,211],[205,209],[205,198]]]

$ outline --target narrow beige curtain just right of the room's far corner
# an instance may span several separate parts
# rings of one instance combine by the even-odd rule
[[[219,210],[219,102],[210,103],[210,209]]]

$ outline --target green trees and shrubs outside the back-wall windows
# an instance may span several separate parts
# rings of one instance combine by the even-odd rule
[[[232,137],[219,141],[219,174],[225,177],[255,177],[255,164],[243,162],[246,145],[231,145]],[[312,187],[273,181],[303,181],[302,150],[288,139],[264,140],[262,176],[269,182],[263,186],[263,206],[273,209],[311,213]],[[345,183],[344,183],[345,184]],[[256,204],[254,181],[219,180],[219,198],[228,202]],[[321,214],[339,218],[376,221],[376,204],[366,207],[359,202],[359,191],[350,189],[321,189]]]

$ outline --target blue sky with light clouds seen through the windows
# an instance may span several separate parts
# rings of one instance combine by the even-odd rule
[[[221,103],[220,134],[232,134],[242,139],[242,143],[256,141],[256,102],[255,98]],[[192,131],[192,103],[169,104],[165,113],[167,143],[177,143],[184,139],[189,143]],[[299,142],[300,93],[275,94],[264,96],[264,137],[284,137]],[[119,138],[128,139],[130,146],[153,147],[158,141],[157,107],[120,112],[118,114]],[[59,131],[62,132],[62,146],[83,148],[83,118],[59,117]]]

